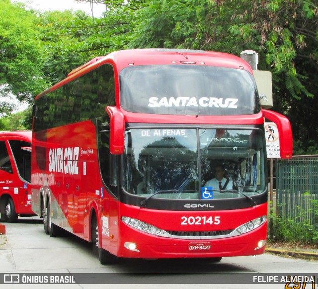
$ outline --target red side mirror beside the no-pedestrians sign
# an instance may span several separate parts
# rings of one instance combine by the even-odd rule
[[[277,125],[280,157],[290,159],[293,155],[293,134],[288,118],[272,110],[263,109],[263,115]]]

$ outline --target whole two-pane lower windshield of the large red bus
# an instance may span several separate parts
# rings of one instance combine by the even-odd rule
[[[258,129],[130,129],[125,136],[123,187],[130,194],[156,193],[154,198],[167,199],[263,193],[263,142]],[[224,168],[222,189],[208,182],[217,177],[219,167]]]

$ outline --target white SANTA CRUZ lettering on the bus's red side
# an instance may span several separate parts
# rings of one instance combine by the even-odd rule
[[[49,172],[78,175],[79,147],[56,148],[49,151]]]

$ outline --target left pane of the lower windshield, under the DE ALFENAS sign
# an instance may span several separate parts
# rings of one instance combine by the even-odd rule
[[[124,188],[163,198],[198,197],[195,129],[148,129],[126,132]],[[174,190],[173,192],[168,192]]]

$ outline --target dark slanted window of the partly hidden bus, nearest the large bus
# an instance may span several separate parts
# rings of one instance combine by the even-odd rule
[[[31,144],[20,140],[9,140],[9,145],[21,178],[31,182],[31,152],[24,149],[31,147]]]

